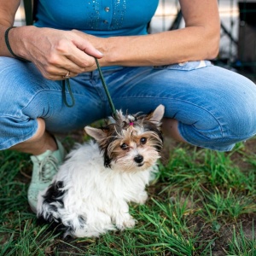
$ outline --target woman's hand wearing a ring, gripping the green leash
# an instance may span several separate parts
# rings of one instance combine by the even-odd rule
[[[72,31],[21,26],[9,32],[9,42],[16,55],[32,61],[44,78],[65,79],[96,69],[102,53],[88,40]]]

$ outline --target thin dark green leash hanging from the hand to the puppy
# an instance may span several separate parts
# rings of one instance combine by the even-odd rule
[[[101,80],[102,80],[102,85],[103,85],[104,90],[105,90],[105,92],[106,92],[106,95],[107,95],[107,97],[108,97],[108,102],[109,102],[110,108],[111,108],[111,110],[112,110],[112,112],[113,112],[113,115],[115,115],[115,114],[116,114],[116,109],[115,109],[114,106],[113,106],[113,101],[112,101],[112,98],[111,98],[111,96],[110,96],[110,94],[109,94],[108,86],[107,86],[107,84],[106,84],[106,82],[105,82],[105,79],[104,79],[104,77],[103,77],[102,69],[101,69],[101,67],[100,67],[99,61],[98,61],[96,58],[95,58],[95,61],[96,61],[96,65],[97,65],[97,68],[98,68],[98,71],[99,71],[99,74],[100,74],[100,78],[101,78]],[[69,104],[69,103],[67,102],[67,97],[66,97],[66,84],[67,84],[68,93],[69,93],[70,96],[71,96],[71,101],[72,101],[71,104]],[[75,99],[74,99],[74,96],[73,96],[73,92],[72,92],[72,90],[71,90],[71,86],[70,86],[69,79],[62,80],[62,96],[63,96],[63,101],[64,101],[65,105],[66,105],[68,108],[72,108],[73,105],[75,104]]]

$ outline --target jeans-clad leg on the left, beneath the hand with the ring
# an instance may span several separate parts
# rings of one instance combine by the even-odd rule
[[[102,118],[102,102],[90,73],[71,79],[75,105],[68,108],[62,97],[62,82],[44,79],[28,62],[0,57],[0,149],[32,137],[43,118],[50,132],[66,132]],[[71,103],[66,88],[67,102]]]

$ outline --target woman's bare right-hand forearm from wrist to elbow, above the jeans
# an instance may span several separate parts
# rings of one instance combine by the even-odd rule
[[[218,55],[219,33],[201,26],[147,36],[108,38],[103,65],[158,66],[213,59]]]

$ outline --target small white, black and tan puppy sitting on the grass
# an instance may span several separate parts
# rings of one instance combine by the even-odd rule
[[[84,129],[96,142],[77,145],[49,188],[38,195],[38,218],[64,226],[64,236],[100,236],[135,225],[128,202],[143,204],[163,138],[164,106],[148,115],[124,115],[101,129]]]

